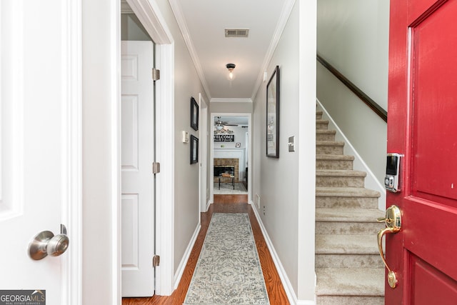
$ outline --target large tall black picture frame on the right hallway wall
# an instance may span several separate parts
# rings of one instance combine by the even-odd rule
[[[266,156],[279,158],[279,66],[266,85]]]

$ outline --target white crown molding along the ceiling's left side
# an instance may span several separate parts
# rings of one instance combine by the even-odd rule
[[[199,79],[201,81],[201,86],[203,86],[205,90],[206,97],[211,101],[211,94],[209,91],[208,84],[206,83],[205,74],[203,69],[201,68],[199,56],[194,47],[194,43],[191,39],[191,34],[189,32],[189,28],[187,27],[186,18],[184,17],[183,11],[181,9],[181,4],[179,4],[178,0],[169,0],[169,4],[171,6],[171,10],[176,17],[176,21],[178,22],[179,29],[181,30],[181,34],[183,34],[183,39],[186,42],[187,49],[189,49],[189,54],[191,56],[192,61],[194,61],[194,66],[199,74]]]

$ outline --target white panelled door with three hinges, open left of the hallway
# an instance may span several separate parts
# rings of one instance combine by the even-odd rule
[[[122,296],[154,295],[154,47],[122,41]]]

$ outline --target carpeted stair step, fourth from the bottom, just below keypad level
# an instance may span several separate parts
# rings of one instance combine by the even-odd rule
[[[378,191],[360,187],[316,187],[316,209],[318,208],[361,208],[377,209]]]

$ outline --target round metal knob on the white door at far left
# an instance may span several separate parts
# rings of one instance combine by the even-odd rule
[[[69,247],[69,237],[66,228],[61,225],[61,234],[54,236],[51,231],[41,231],[29,244],[29,256],[35,261],[46,256],[59,256]]]

